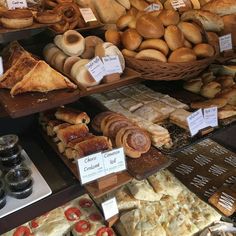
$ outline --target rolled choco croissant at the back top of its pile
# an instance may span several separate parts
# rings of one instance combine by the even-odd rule
[[[86,112],[71,108],[59,108],[55,113],[55,117],[58,120],[65,121],[70,124],[88,124],[90,122],[90,118]]]

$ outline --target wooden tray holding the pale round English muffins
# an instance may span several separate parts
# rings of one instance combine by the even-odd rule
[[[101,93],[101,92],[119,88],[125,85],[134,84],[142,80],[143,79],[141,78],[140,73],[126,67],[124,70],[124,73],[121,75],[121,79],[118,81],[114,81],[114,82],[106,83],[106,84],[99,84],[97,86],[90,87],[90,88],[79,86],[79,88],[81,89],[81,97],[84,97],[84,96],[88,96],[94,93]]]

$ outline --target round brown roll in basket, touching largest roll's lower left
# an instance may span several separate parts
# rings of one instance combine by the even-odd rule
[[[123,46],[128,50],[136,50],[142,42],[142,37],[135,29],[127,29],[121,35]]]

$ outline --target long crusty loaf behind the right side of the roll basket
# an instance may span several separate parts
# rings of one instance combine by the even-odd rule
[[[182,21],[200,21],[206,31],[220,32],[224,29],[224,22],[220,16],[208,11],[190,10],[181,16]]]

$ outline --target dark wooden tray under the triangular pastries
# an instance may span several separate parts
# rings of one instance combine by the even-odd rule
[[[80,91],[55,90],[48,93],[24,93],[11,97],[10,91],[0,89],[0,103],[9,116],[17,118],[62,106],[79,99]]]

